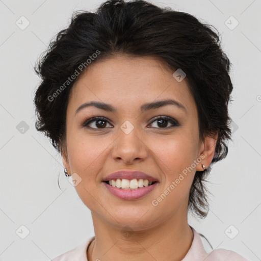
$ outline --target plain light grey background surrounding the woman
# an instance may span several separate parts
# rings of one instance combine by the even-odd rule
[[[233,64],[233,142],[209,178],[209,215],[203,221],[189,217],[189,223],[214,248],[261,260],[261,3],[151,2],[193,14],[222,34]],[[90,211],[64,176],[60,155],[36,132],[33,96],[39,79],[33,66],[50,39],[67,27],[74,10],[94,11],[100,3],[0,0],[0,260],[50,260],[94,235]],[[23,30],[27,20],[21,16],[30,22]],[[30,233],[21,239],[27,229]]]

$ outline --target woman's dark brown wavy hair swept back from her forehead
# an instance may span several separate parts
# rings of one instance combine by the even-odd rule
[[[59,153],[66,146],[70,90],[79,76],[70,79],[62,91],[61,86],[82,64],[87,68],[87,59],[97,50],[100,54],[92,63],[126,54],[159,58],[173,72],[181,68],[187,74],[186,81],[196,102],[200,139],[218,133],[211,166],[226,157],[226,142],[231,140],[227,107],[233,87],[229,76],[231,63],[222,51],[219,32],[193,15],[141,0],[107,1],[95,13],[75,11],[68,28],[51,39],[36,62],[34,69],[41,83],[34,98],[35,126]],[[49,97],[54,97],[59,88],[61,92],[51,100]],[[199,218],[206,217],[209,210],[204,182],[211,166],[196,171],[190,189],[188,210]]]

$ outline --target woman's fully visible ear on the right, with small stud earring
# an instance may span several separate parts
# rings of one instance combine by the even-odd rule
[[[217,144],[218,139],[218,133],[216,133],[215,137],[212,136],[206,136],[204,141],[201,142],[200,150],[198,157],[201,155],[201,163],[197,164],[196,171],[203,171],[202,164],[205,165],[205,169],[207,169],[208,166],[210,166],[214,154],[215,154],[215,148]],[[202,157],[202,154],[204,155],[204,158]]]

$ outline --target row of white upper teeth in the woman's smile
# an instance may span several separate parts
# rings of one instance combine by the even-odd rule
[[[137,178],[135,179],[132,179],[132,180],[128,180],[128,179],[120,179],[120,178],[117,178],[116,180],[115,179],[112,179],[112,180],[109,180],[109,184],[112,186],[112,187],[117,187],[117,188],[121,188],[121,189],[138,189],[138,188],[143,188],[143,187],[148,187],[149,185],[152,184],[152,181],[149,181],[148,179],[142,179],[142,178],[139,178],[137,180]]]

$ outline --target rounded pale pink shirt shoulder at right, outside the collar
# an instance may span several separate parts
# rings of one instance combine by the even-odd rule
[[[226,250],[223,248],[215,249],[207,254],[205,261],[248,261],[245,257],[239,255],[238,253]]]

